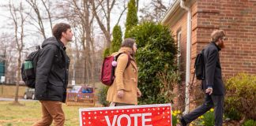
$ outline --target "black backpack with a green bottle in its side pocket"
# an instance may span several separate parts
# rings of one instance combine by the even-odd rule
[[[40,54],[40,46],[37,46],[37,50],[28,54],[24,63],[21,65],[21,77],[26,86],[35,88],[36,84],[36,64]]]

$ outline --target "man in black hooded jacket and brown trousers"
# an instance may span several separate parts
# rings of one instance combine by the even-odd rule
[[[66,87],[70,57],[66,55],[66,43],[72,41],[70,24],[59,23],[53,28],[54,37],[45,39],[36,65],[36,99],[42,105],[43,117],[34,126],[64,125],[62,102],[66,101]]]

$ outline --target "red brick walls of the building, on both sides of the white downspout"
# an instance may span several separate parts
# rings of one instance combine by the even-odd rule
[[[220,51],[220,63],[224,80],[239,72],[256,74],[256,1],[255,0],[197,0],[191,6],[191,64],[190,80],[194,73],[196,54],[210,42],[210,34],[215,29],[226,31],[228,41]],[[184,13],[185,12],[185,13]],[[180,12],[179,12],[180,13]],[[177,13],[174,13],[177,14]],[[177,14],[178,15],[178,14]],[[178,40],[181,31],[181,72],[185,80],[186,72],[186,11],[176,22],[169,22],[172,35]],[[170,25],[171,24],[171,25]],[[199,86],[199,81],[196,82]],[[192,89],[193,88],[193,89]],[[191,86],[190,101],[196,99],[198,90]],[[199,95],[198,95],[199,96]],[[194,108],[194,104],[190,104]]]

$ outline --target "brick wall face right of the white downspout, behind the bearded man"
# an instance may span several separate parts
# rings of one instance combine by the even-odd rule
[[[196,4],[198,23],[193,29],[198,35],[192,49],[200,51],[214,29],[223,29],[228,37],[220,51],[224,78],[239,72],[256,74],[256,1],[198,0]]]

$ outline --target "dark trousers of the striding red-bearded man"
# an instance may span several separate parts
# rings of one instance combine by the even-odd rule
[[[203,105],[194,109],[191,113],[187,113],[183,116],[186,124],[197,119],[209,109],[214,107],[215,126],[222,126],[223,123],[223,111],[224,111],[224,95],[205,95],[205,102]]]

